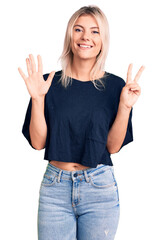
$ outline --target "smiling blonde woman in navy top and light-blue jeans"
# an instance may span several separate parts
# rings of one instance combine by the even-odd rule
[[[22,132],[47,168],[40,187],[39,240],[114,239],[119,221],[118,186],[110,155],[133,141],[132,107],[137,81],[104,71],[109,26],[97,6],[70,18],[61,55],[62,70],[43,75],[33,55],[29,76],[18,68],[31,96]]]

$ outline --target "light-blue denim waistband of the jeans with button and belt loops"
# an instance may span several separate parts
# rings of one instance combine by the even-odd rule
[[[89,182],[89,174],[91,174],[93,172],[97,173],[102,168],[113,168],[113,166],[98,164],[96,166],[96,168],[87,168],[87,169],[83,169],[83,170],[67,171],[67,170],[63,170],[61,168],[58,168],[58,167],[52,165],[50,162],[47,165],[47,169],[49,169],[50,171],[53,171],[54,173],[56,173],[58,175],[58,182],[60,181],[61,176],[75,180],[78,176],[82,177],[82,175],[85,177],[86,181]]]

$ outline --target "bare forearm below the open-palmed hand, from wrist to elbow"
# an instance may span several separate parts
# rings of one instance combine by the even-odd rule
[[[29,131],[32,146],[37,150],[43,149],[47,137],[47,125],[44,116],[44,97],[32,99]]]

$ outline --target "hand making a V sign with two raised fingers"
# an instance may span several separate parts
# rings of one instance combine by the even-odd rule
[[[120,95],[121,105],[123,105],[129,109],[132,108],[132,106],[135,104],[135,102],[138,100],[138,97],[141,94],[141,88],[137,82],[145,68],[144,66],[141,66],[141,68],[137,72],[134,80],[132,81],[132,79],[131,79],[132,67],[133,67],[133,64],[130,64],[128,67],[126,85],[123,87],[121,95]]]

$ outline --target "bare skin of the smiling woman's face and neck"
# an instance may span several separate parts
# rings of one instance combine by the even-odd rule
[[[81,49],[78,44],[93,46],[91,49]],[[81,81],[90,80],[90,71],[95,64],[96,56],[102,48],[102,41],[98,24],[94,17],[90,15],[80,16],[74,24],[71,40],[73,52],[72,77]],[[69,68],[67,76],[70,75]],[[104,71],[99,73],[102,77]]]

